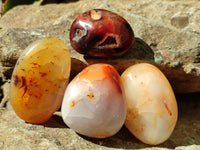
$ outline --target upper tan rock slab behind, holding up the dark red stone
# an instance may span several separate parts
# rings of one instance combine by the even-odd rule
[[[10,78],[16,59],[36,39],[64,40],[72,57],[83,63],[108,62],[123,71],[136,59],[151,61],[167,75],[176,92],[200,91],[200,2],[196,1],[88,1],[44,6],[18,6],[0,20],[0,57],[4,78]],[[84,59],[69,43],[69,28],[82,12],[104,8],[123,16],[135,31],[132,50],[115,60]],[[11,19],[12,18],[12,19]],[[145,46],[146,45],[146,46]],[[73,61],[75,65],[81,61]],[[73,69],[73,68],[72,68]],[[79,72],[82,67],[75,68]]]

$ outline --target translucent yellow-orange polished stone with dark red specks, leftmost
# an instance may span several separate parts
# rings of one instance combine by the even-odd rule
[[[19,57],[11,80],[15,113],[33,124],[44,123],[61,106],[71,68],[65,43],[47,37],[29,45]]]

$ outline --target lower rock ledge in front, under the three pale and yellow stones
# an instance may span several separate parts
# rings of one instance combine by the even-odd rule
[[[200,148],[199,96],[198,94],[177,96],[179,104],[177,126],[165,143],[155,147],[141,143],[125,127],[107,139],[78,135],[63,123],[59,111],[45,124],[28,124],[15,115],[8,103],[7,108],[0,108],[0,149],[198,150]]]

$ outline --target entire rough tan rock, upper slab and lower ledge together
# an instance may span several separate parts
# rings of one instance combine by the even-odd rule
[[[135,31],[132,50],[120,59],[84,58],[69,43],[69,28],[82,12],[104,8],[123,16]],[[87,64],[107,62],[119,72],[141,61],[157,65],[176,92],[200,92],[199,0],[74,0],[64,4],[17,6],[0,19],[0,78],[10,79],[19,55],[40,37],[62,39],[71,50],[72,74]],[[2,87],[9,100],[9,84]],[[200,93],[178,95],[178,124],[168,141],[152,147],[142,144],[123,127],[108,139],[80,136],[64,125],[57,112],[43,125],[20,120],[10,104],[0,108],[0,149],[200,149]]]

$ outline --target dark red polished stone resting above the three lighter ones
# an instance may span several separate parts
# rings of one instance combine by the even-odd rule
[[[93,9],[76,18],[70,29],[70,42],[79,53],[92,57],[118,57],[133,45],[134,33],[121,16]]]

